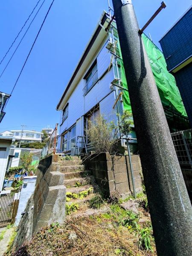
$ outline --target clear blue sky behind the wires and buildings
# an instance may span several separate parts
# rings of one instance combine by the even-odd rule
[[[0,1],[0,59],[37,2],[38,0]],[[43,0],[40,3],[42,2]],[[0,78],[0,91],[11,92],[51,2],[52,0],[45,0],[17,53]],[[142,27],[160,6],[161,0],[132,2]],[[151,34],[158,47],[159,39],[190,4],[190,0],[166,0],[166,9],[145,30],[147,35]],[[60,112],[55,110],[56,105],[104,9],[107,10],[107,0],[55,0],[7,104],[0,131],[20,129],[20,125],[39,131],[47,125],[54,127],[59,122]],[[0,65],[0,73],[15,47],[12,47]]]

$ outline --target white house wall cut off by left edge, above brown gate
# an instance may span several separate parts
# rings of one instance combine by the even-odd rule
[[[3,188],[3,181],[6,171],[9,169],[9,161],[13,156],[10,154],[10,147],[14,137],[0,136],[0,191]]]

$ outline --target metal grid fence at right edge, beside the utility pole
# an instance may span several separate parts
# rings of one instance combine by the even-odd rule
[[[192,129],[171,134],[179,163],[192,165]]]

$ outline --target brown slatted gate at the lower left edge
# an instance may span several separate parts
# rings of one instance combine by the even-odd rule
[[[20,189],[0,192],[0,227],[14,224],[19,198]]]

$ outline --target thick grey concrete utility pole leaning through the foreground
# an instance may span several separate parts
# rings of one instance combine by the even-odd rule
[[[159,256],[192,255],[192,207],[131,0],[113,0]]]

